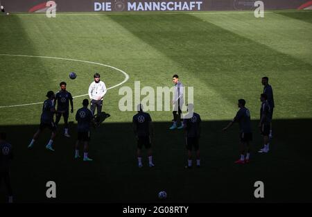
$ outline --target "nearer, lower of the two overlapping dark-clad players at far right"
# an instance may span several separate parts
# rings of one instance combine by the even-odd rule
[[[269,145],[269,135],[270,135],[270,123],[271,123],[271,108],[268,103],[268,96],[266,94],[260,95],[261,108],[260,108],[260,122],[259,128],[260,132],[263,135],[263,144],[264,147],[259,150],[259,153],[268,153],[270,150]]]

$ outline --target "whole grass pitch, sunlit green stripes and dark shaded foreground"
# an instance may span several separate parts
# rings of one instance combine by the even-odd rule
[[[119,87],[105,96],[111,114],[92,131],[94,162],[73,159],[76,122],[70,139],[55,139],[55,153],[44,149],[49,132],[33,150],[28,143],[40,122],[46,92],[67,82],[73,96],[87,94],[95,72],[108,87],[121,83],[119,71],[86,62],[0,55],[0,129],[14,146],[12,184],[16,202],[311,202],[312,201],[312,12],[279,10],[256,19],[253,12],[59,13],[0,16],[0,53],[70,58],[108,64],[144,86],[171,87],[173,73],[194,87],[195,110],[202,116],[202,168],[185,171],[182,131],[169,131],[171,112],[150,112],[155,122],[155,168],[137,168],[132,133],[135,112],[120,112]],[[75,71],[76,80],[69,80]],[[260,155],[258,133],[261,77],[275,93],[272,151]],[[120,86],[121,87],[121,86]],[[74,99],[75,111],[84,97]],[[245,98],[254,130],[252,162],[238,166],[238,126],[223,126]],[[61,121],[62,123],[62,121]],[[146,155],[145,155],[146,156]],[[57,198],[46,198],[46,182],[57,184]],[[265,184],[265,198],[254,198],[254,182]],[[5,201],[0,188],[0,201]]]

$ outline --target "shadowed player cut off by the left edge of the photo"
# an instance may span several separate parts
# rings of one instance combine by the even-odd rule
[[[6,141],[6,133],[0,132],[0,186],[3,183],[8,192],[8,202],[13,202],[13,191],[10,182],[10,161],[13,158],[12,146]]]

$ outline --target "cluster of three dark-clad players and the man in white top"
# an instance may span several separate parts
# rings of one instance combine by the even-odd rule
[[[64,136],[70,137],[69,128],[68,128],[68,119],[69,119],[69,103],[71,105],[71,113],[73,113],[73,97],[71,93],[69,93],[66,89],[66,83],[60,83],[60,91],[55,95],[53,91],[49,91],[46,94],[46,101],[44,101],[44,105],[42,107],[42,114],[40,119],[40,126],[37,132],[35,132],[33,139],[31,140],[31,144],[29,144],[28,148],[33,148],[35,141],[39,137],[42,130],[45,128],[49,128],[51,130],[51,138],[46,145],[46,149],[53,149],[53,141],[56,136],[57,125],[63,116],[64,118]],[[102,106],[103,106],[103,97],[107,92],[105,83],[101,81],[100,74],[94,74],[94,82],[89,86],[89,98],[91,99],[91,110],[88,109],[89,100],[83,100],[83,107],[81,107],[76,112],[76,121],[78,122],[78,138],[76,141],[76,150],[75,150],[75,158],[79,158],[79,144],[84,145],[84,161],[92,161],[88,157],[88,146],[90,140],[90,125],[98,125],[94,120],[95,110],[97,110],[97,114],[101,114]],[[55,104],[57,109],[55,110]],[[55,122],[53,121],[53,116],[56,116]]]

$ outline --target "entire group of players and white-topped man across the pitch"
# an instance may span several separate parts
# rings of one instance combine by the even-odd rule
[[[193,105],[187,105],[187,118],[181,119],[182,110],[180,105],[183,103],[183,85],[179,81],[179,76],[173,76],[174,83],[174,97],[173,97],[173,125],[169,128],[184,129],[185,141],[187,148],[187,166],[185,168],[192,168],[192,150],[196,151],[196,166],[200,167],[200,151],[199,151],[199,139],[200,139],[200,115],[193,112]],[[268,84],[268,77],[263,77],[261,81],[263,85],[263,93],[260,95],[261,108],[260,108],[260,121],[259,129],[263,135],[263,148],[259,150],[259,153],[268,153],[270,150],[270,139],[272,139],[272,114],[274,105],[272,87]],[[46,101],[43,103],[42,114],[40,119],[40,126],[37,132],[33,135],[31,143],[28,148],[33,148],[35,141],[40,136],[42,130],[49,128],[51,130],[51,138],[46,144],[46,149],[54,151],[53,141],[57,132],[57,125],[63,116],[64,118],[64,136],[70,137],[68,128],[69,118],[69,104],[71,105],[70,112],[73,113],[73,97],[66,89],[66,83],[60,83],[60,91],[54,94],[53,91],[49,91],[46,94]],[[74,158],[80,158],[79,145],[83,144],[83,161],[92,161],[88,157],[90,129],[91,126],[98,125],[99,123],[94,119],[95,110],[97,115],[101,113],[103,106],[103,97],[105,96],[107,89],[105,83],[100,80],[98,73],[94,74],[94,82],[89,86],[89,98],[91,99],[91,110],[88,109],[89,100],[83,100],[83,107],[76,112],[76,121],[78,122],[77,141],[75,145]],[[55,104],[57,108],[55,110]],[[241,157],[237,160],[236,164],[245,164],[250,162],[250,142],[252,141],[252,126],[250,121],[250,111],[245,107],[245,100],[239,99],[237,112],[234,119],[223,130],[227,130],[233,123],[239,123],[239,137],[241,140]],[[137,161],[138,166],[143,166],[141,149],[143,146],[148,150],[148,165],[150,167],[155,166],[152,157],[152,141],[154,137],[154,130],[152,119],[150,114],[144,112],[143,106],[140,104],[137,107],[137,114],[133,116],[132,123],[137,139]],[[56,116],[55,121],[53,116]],[[178,126],[178,123],[180,124]],[[12,187],[10,186],[9,165],[12,159],[12,146],[6,141],[6,133],[0,133],[0,182],[4,180],[6,188],[8,189],[9,202],[12,202]]]

